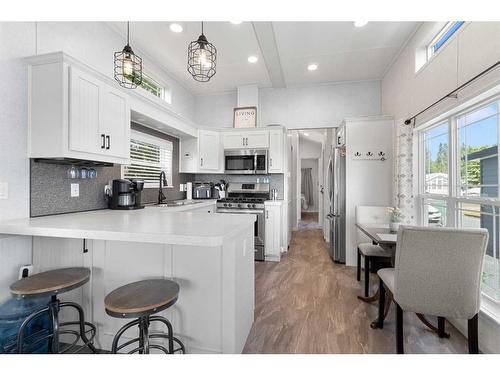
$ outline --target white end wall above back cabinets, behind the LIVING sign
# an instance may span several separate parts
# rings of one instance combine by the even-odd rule
[[[232,127],[236,91],[197,96],[195,121]],[[338,126],[346,117],[380,114],[380,82],[347,82],[284,89],[259,89],[259,124],[290,129]]]

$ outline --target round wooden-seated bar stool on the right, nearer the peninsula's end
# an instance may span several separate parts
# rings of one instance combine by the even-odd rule
[[[158,349],[165,354],[176,352],[185,353],[182,342],[174,337],[172,324],[162,316],[152,316],[154,313],[163,311],[173,306],[179,297],[179,284],[174,281],[164,279],[151,279],[137,281],[121,286],[104,299],[106,313],[114,318],[135,318],[125,324],[116,333],[111,347],[112,353],[118,353],[121,349],[138,342],[138,347],[129,351],[128,354],[137,353],[149,354],[150,349]],[[151,322],[160,322],[167,327],[165,333],[149,333]],[[131,339],[118,345],[121,336],[128,329],[138,326],[139,337]],[[151,344],[150,338],[163,338],[168,340],[168,348],[159,344]],[[177,344],[177,348],[175,347]]]

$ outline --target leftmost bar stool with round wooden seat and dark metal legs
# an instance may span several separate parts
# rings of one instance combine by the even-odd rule
[[[81,338],[84,346],[76,349],[76,353],[88,347],[93,353],[97,353],[97,349],[93,345],[93,339],[96,334],[96,327],[85,321],[83,309],[80,305],[74,302],[61,302],[58,294],[68,292],[86,284],[90,279],[90,270],[83,267],[60,268],[52,271],[41,272],[29,276],[27,278],[16,281],[10,286],[12,294],[23,297],[41,297],[50,296],[50,301],[46,307],[33,312],[28,316],[21,327],[17,337],[17,352],[23,353],[25,349],[36,345],[41,341],[48,340],[49,353],[67,353],[74,348]],[[59,322],[59,312],[63,307],[72,307],[78,313],[77,321]],[[25,337],[25,330],[28,325],[37,318],[47,315],[49,318],[49,327],[46,332],[35,332],[30,336]],[[78,331],[72,329],[62,329],[70,325],[78,325]],[[89,329],[87,329],[89,327]],[[87,334],[90,333],[90,338]],[[67,347],[60,348],[60,335],[69,334],[75,336],[75,340]]]

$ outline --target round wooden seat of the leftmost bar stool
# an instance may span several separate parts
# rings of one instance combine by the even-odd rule
[[[59,268],[36,273],[10,286],[15,295],[38,296],[59,294],[78,288],[90,279],[90,270],[84,267]]]

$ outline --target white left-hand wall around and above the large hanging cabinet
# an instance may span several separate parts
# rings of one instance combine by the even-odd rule
[[[112,77],[113,52],[124,40],[100,22],[0,22],[0,182],[8,183],[8,199],[0,200],[0,219],[29,216],[29,162],[27,155],[27,65],[26,56],[64,51],[92,68]],[[136,53],[140,53],[136,50]],[[172,88],[172,109],[194,118],[194,97],[163,70],[145,59],[150,69]],[[15,249],[15,251],[13,251]],[[31,241],[0,238],[0,301],[23,264],[31,261]]]

